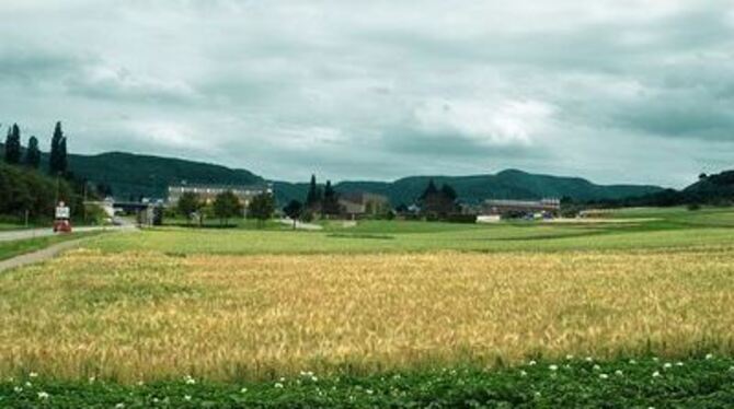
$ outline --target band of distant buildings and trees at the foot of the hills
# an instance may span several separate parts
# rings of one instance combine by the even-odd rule
[[[141,199],[139,202],[115,201],[107,198],[100,202],[112,217],[117,212],[138,212],[141,223],[160,224],[165,213],[202,218],[204,208],[214,207],[222,196],[237,200],[238,212],[231,218],[250,218],[253,202],[260,197],[274,197],[272,184],[260,185],[207,185],[180,183],[168,187],[168,197],[163,200]],[[191,206],[185,201],[194,200]],[[311,221],[313,219],[332,220],[427,220],[460,223],[491,223],[503,219],[552,219],[560,215],[561,200],[546,198],[540,200],[506,200],[486,199],[479,204],[467,204],[458,200],[454,189],[444,185],[437,188],[433,180],[428,182],[423,195],[411,204],[392,206],[385,195],[369,191],[335,192],[328,184],[322,188],[312,178],[312,186],[305,200],[294,200],[282,209],[273,203],[274,217]],[[181,211],[183,210],[183,211]],[[181,214],[181,213],[191,214]],[[269,212],[269,211],[268,211]]]

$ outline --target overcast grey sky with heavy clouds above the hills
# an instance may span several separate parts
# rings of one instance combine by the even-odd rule
[[[287,180],[680,187],[734,167],[734,2],[1,0],[0,122],[57,119]]]

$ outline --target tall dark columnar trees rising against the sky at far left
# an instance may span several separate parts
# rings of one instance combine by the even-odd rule
[[[8,127],[4,161],[9,165],[25,165],[27,167],[38,170],[41,167],[41,149],[38,148],[38,139],[33,136],[28,138],[27,148],[25,148],[25,155],[23,155],[21,128],[18,126],[18,124],[13,124],[11,127]],[[55,176],[68,175],[67,139],[64,136],[64,131],[61,130],[60,121],[56,122],[54,135],[51,137],[48,172]]]

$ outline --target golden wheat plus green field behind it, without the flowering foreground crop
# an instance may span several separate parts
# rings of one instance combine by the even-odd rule
[[[731,357],[732,213],[613,217],[94,237],[0,276],[0,376],[267,385]]]

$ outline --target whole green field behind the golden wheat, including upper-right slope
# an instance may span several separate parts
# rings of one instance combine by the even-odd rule
[[[164,227],[139,235],[104,237],[91,246],[104,252],[164,254],[345,254],[458,252],[580,252],[729,247],[734,212],[708,209],[633,209],[613,214],[615,223],[514,222],[486,225],[406,221],[366,221],[323,231],[267,229],[197,230]]]

